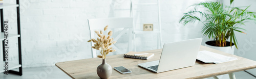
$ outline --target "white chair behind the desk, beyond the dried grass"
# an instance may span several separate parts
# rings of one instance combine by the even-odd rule
[[[122,29],[120,33],[114,38],[114,41],[117,41],[125,32],[128,31],[129,35],[129,46],[127,48],[127,51],[132,50],[132,38],[133,38],[133,18],[132,17],[123,17],[123,18],[100,18],[100,19],[88,19],[88,24],[89,24],[89,30],[90,30],[90,36],[91,38],[95,38],[94,36],[94,31],[95,30],[103,30],[103,28],[106,25],[109,25],[107,32],[110,31],[110,29]],[[106,34],[107,32],[104,32]],[[115,32],[113,32],[115,33]],[[118,41],[117,41],[118,43]],[[134,44],[134,42],[133,42]],[[94,45],[93,42],[91,42],[91,46]],[[121,51],[118,49],[118,47],[114,45],[111,45],[113,49],[116,49],[117,54],[124,54],[126,52]],[[96,49],[92,48],[92,58],[96,58]]]

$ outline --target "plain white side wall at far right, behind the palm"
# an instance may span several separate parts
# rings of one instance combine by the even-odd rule
[[[223,1],[224,4],[229,5],[227,1]],[[256,12],[256,1],[255,0],[236,0],[233,2],[234,7],[244,7],[250,6],[247,10]],[[241,28],[245,29],[244,31],[247,34],[236,33],[238,40],[238,49],[235,50],[235,55],[244,57],[250,60],[256,61],[256,22],[249,21],[245,25],[241,25]],[[256,75],[256,69],[247,70],[253,75]]]

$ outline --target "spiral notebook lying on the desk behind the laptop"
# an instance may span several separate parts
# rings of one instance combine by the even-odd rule
[[[147,54],[147,55],[135,56],[135,54]],[[126,58],[144,59],[144,60],[150,59],[153,56],[154,56],[154,54],[152,54],[152,53],[148,53],[148,52],[135,52],[135,51],[130,51],[130,52],[127,52],[126,54],[123,55],[123,57],[126,57]]]

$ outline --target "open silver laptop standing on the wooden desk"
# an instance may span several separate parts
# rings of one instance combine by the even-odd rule
[[[160,60],[138,65],[156,73],[193,66],[196,63],[201,42],[202,38],[196,38],[165,43]]]

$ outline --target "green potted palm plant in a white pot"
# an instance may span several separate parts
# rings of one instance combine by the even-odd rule
[[[230,5],[232,2],[233,0],[230,0]],[[186,25],[189,22],[202,22],[203,35],[214,39],[207,41],[205,45],[230,54],[233,54],[234,47],[238,48],[234,32],[244,33],[245,29],[242,28],[242,25],[248,20],[256,21],[255,12],[247,10],[249,6],[231,7],[224,6],[219,2],[202,2],[191,6],[194,6],[195,10],[184,13],[180,23]],[[200,11],[198,8],[205,11]]]

